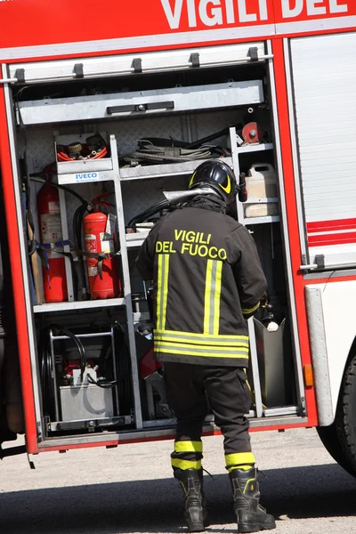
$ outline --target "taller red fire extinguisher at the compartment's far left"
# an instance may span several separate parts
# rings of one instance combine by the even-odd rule
[[[45,183],[37,194],[38,223],[41,243],[62,240],[61,208],[57,188]],[[61,248],[57,248],[61,250]],[[48,270],[43,267],[44,300],[46,303],[62,303],[68,300],[66,264],[64,257],[47,250]]]

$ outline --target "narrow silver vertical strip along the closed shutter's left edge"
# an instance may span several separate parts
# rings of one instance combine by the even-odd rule
[[[293,97],[293,85],[292,85],[292,65],[291,65],[291,56],[289,50],[289,39],[283,39],[283,50],[285,56],[285,69],[286,69],[286,80],[287,80],[287,99],[288,99],[288,109],[289,109],[289,123],[290,123],[290,139],[292,142],[292,156],[293,156],[293,169],[295,173],[295,190],[296,190],[296,211],[298,214],[298,228],[300,234],[300,245],[302,255],[307,258],[307,247],[306,247],[306,234],[305,234],[305,223],[303,216],[303,195],[302,195],[302,179],[299,168],[299,152],[298,152],[298,143],[297,143],[297,134],[296,134],[296,123],[295,123],[295,106],[294,106],[294,97]]]

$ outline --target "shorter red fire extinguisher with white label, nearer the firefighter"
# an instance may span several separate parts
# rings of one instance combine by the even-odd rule
[[[115,252],[114,235],[107,232],[108,215],[95,207],[83,219],[85,251],[108,255],[108,259],[86,258],[90,295],[93,299],[113,298],[121,294],[118,278],[117,258],[110,257]],[[101,271],[101,272],[100,272]]]

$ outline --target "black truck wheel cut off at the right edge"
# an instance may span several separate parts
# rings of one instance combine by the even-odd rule
[[[328,453],[356,477],[356,356],[344,372],[335,422],[317,430]]]

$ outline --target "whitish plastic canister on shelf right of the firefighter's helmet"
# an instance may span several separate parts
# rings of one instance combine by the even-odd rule
[[[251,166],[246,177],[247,203],[246,217],[264,217],[279,213],[277,201],[277,178],[270,163],[256,163]],[[275,198],[275,202],[263,202],[263,198]],[[254,202],[254,200],[262,200]]]

